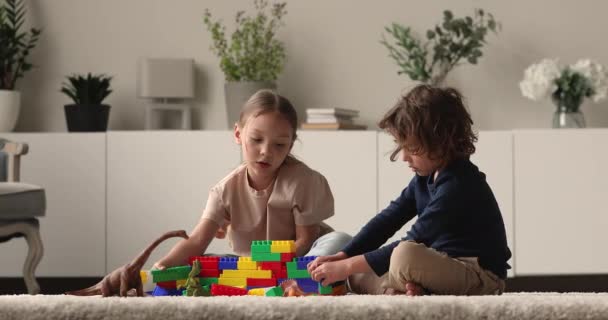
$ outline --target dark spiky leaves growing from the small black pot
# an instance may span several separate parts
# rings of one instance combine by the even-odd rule
[[[100,105],[110,94],[110,81],[112,77],[106,75],[92,75],[90,72],[86,77],[83,75],[68,76],[68,83],[63,83],[61,92],[74,100],[78,105]]]

